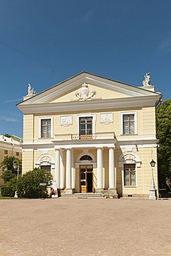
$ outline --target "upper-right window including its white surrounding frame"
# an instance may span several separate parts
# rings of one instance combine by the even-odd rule
[[[137,112],[121,113],[121,134],[137,134]]]

